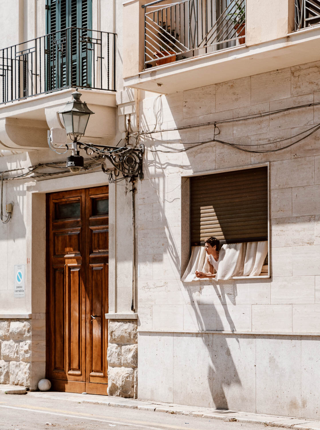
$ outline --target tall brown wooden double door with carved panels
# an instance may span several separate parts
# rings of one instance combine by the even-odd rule
[[[108,187],[47,195],[47,378],[107,394]]]

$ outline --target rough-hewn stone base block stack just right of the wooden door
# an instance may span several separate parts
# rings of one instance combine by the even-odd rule
[[[109,321],[109,396],[137,398],[137,322]]]

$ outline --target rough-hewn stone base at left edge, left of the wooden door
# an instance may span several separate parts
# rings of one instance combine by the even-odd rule
[[[29,320],[0,319],[0,384],[30,387]]]

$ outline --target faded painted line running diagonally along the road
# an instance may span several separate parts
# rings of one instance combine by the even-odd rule
[[[175,426],[170,424],[159,424],[154,422],[147,422],[147,421],[136,421],[136,420],[126,420],[125,418],[121,418],[122,421],[114,421],[114,417],[108,417],[104,415],[94,415],[95,418],[93,418],[93,414],[87,414],[85,412],[70,412],[70,411],[64,411],[61,409],[52,409],[52,408],[45,408],[41,406],[37,406],[37,408],[34,408],[30,405],[8,405],[8,402],[0,402],[0,408],[8,408],[8,409],[18,409],[22,411],[33,411],[43,414],[50,414],[50,415],[60,415],[64,417],[69,418],[83,418],[86,420],[92,420],[92,421],[102,421],[102,422],[108,422],[112,424],[122,424],[122,425],[131,425],[134,427],[140,428],[147,428],[147,429],[153,429],[158,430],[159,428],[164,429],[176,429],[176,430],[197,430],[192,427],[181,427],[181,426]],[[73,415],[71,415],[73,414]],[[150,426],[157,426],[157,427],[150,427]]]

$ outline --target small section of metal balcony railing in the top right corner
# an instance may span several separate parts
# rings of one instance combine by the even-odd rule
[[[320,24],[320,0],[295,0],[295,30]]]

